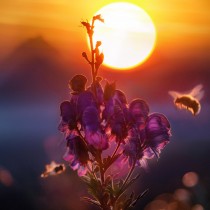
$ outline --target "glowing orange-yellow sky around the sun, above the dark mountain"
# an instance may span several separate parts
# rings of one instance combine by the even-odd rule
[[[117,1],[1,0],[0,59],[20,41],[37,35],[42,35],[66,57],[74,55],[76,59],[86,41],[80,21],[90,19],[98,9],[112,2]],[[209,0],[124,2],[135,3],[148,12],[157,29],[157,47],[165,56],[197,53],[206,56],[209,52]]]

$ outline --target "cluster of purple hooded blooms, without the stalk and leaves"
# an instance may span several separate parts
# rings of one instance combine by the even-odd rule
[[[170,124],[160,113],[149,113],[142,99],[127,102],[115,83],[101,86],[102,78],[86,88],[87,78],[74,76],[69,87],[70,100],[60,105],[59,130],[65,134],[67,151],[64,159],[83,176],[88,162],[94,161],[110,147],[111,140],[121,146],[121,158],[130,166],[143,166],[146,159],[159,157],[169,142]]]

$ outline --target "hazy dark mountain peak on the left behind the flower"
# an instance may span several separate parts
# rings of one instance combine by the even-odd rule
[[[49,100],[66,88],[70,75],[64,68],[42,36],[28,39],[1,63],[0,95],[16,102]]]

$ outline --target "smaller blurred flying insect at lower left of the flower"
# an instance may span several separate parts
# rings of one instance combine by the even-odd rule
[[[46,178],[48,176],[61,174],[65,171],[65,169],[64,164],[57,164],[55,161],[52,161],[50,164],[45,166],[45,171],[41,174],[41,177]]]

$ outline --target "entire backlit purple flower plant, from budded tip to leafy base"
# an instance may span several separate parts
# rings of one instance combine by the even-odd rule
[[[104,55],[101,41],[93,42],[95,21],[104,22],[101,15],[91,24],[81,22],[89,37],[90,58],[86,52],[82,56],[91,67],[92,83],[87,88],[81,74],[70,80],[71,97],[60,105],[59,130],[67,142],[64,160],[87,185],[90,197],[83,200],[103,210],[126,210],[146,192],[128,195],[139,178],[133,172],[159,157],[169,142],[170,123],[163,114],[150,114],[142,99],[128,103],[115,82],[102,87],[98,70]]]

